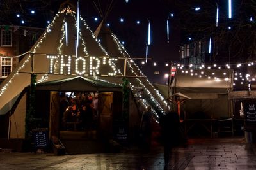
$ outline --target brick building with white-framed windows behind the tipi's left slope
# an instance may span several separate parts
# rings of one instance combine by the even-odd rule
[[[17,25],[1,25],[0,46],[0,82],[17,66],[22,57],[14,57],[27,52],[41,36],[45,29],[22,27]],[[6,56],[13,56],[6,57]]]

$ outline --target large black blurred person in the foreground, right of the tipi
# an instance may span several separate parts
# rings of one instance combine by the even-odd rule
[[[180,141],[180,119],[177,112],[166,113],[160,119],[161,136],[164,146],[164,169],[168,169],[172,148],[178,146]]]

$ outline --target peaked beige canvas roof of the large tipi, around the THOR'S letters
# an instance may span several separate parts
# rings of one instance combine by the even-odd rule
[[[65,23],[67,23],[67,43],[66,43],[66,31]],[[77,57],[96,57],[100,59],[102,64],[102,58],[116,59],[117,57],[126,57],[129,63],[127,64],[127,78],[129,80],[129,86],[133,89],[134,95],[136,95],[136,88],[143,88],[145,94],[149,96],[151,101],[156,103],[156,106],[162,111],[166,104],[162,101],[163,97],[156,90],[147,78],[140,78],[138,76],[143,75],[140,69],[134,62],[131,62],[129,55],[124,50],[124,47],[116,41],[116,37],[113,34],[108,34],[111,38],[108,39],[109,44],[112,46],[106,46],[99,43],[98,39],[95,38],[92,30],[88,27],[86,22],[81,19],[80,21],[80,32],[79,32],[79,45],[76,48],[76,14],[75,13],[61,13],[56,15],[51,24],[47,27],[44,34],[36,41],[35,45],[31,48],[33,55],[33,72],[37,74],[37,82],[53,82],[55,80],[74,78],[77,76],[75,73],[75,63],[72,62],[71,74],[63,73],[60,74],[60,60],[61,55],[72,56],[72,60]],[[116,51],[119,49],[119,52]],[[108,52],[109,50],[109,52]],[[112,52],[115,50],[118,53]],[[109,55],[111,54],[111,55]],[[50,60],[47,59],[47,55],[58,56],[54,60],[54,73],[49,73]],[[115,55],[115,56],[113,56]],[[86,64],[88,60],[86,61]],[[116,85],[122,84],[122,76],[124,76],[124,59],[118,59],[112,65],[102,64],[104,67],[100,67],[99,76],[89,76],[89,68],[86,65],[86,74],[80,75],[83,78],[91,78],[92,80],[107,81],[109,83],[115,83]],[[116,76],[106,76],[109,72],[113,73],[113,68],[116,69]],[[31,73],[31,55],[28,53],[19,62],[18,66],[13,69],[12,73],[1,83],[0,85],[0,110],[6,106],[10,101],[19,96],[19,93],[24,90],[25,87],[30,85],[30,73]],[[137,77],[135,77],[137,76]],[[38,84],[38,86],[40,86]],[[149,101],[147,101],[149,103]]]

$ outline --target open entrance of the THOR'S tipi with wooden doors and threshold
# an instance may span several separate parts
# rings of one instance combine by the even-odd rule
[[[113,92],[51,92],[51,136],[58,136],[67,153],[104,152],[112,106]]]

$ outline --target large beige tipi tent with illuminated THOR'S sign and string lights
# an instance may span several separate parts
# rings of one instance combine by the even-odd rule
[[[129,57],[124,46],[111,33],[111,46],[103,46],[85,20],[69,6],[61,9],[44,34],[26,53],[19,65],[0,85],[0,115],[8,118],[8,137],[24,138],[27,94],[31,73],[37,75],[37,90],[120,90],[122,78],[131,89],[129,118],[131,128],[140,122],[140,110],[154,105],[154,113],[163,113],[166,102]],[[79,25],[79,29],[77,29]],[[77,30],[79,30],[77,36]],[[116,53],[111,50],[115,49]],[[74,85],[75,84],[75,85]],[[140,90],[138,90],[140,89]],[[141,89],[145,99],[142,99]],[[137,99],[136,101],[134,101]],[[141,107],[143,106],[143,107]],[[109,106],[111,108],[111,106]],[[7,115],[6,113],[10,113]],[[10,128],[8,128],[10,127]],[[134,130],[135,131],[135,130]]]

